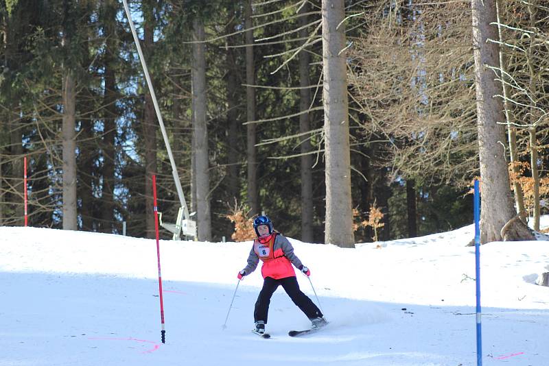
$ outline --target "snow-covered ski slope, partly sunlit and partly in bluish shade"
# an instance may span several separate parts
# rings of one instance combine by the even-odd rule
[[[222,330],[250,242],[161,241],[163,344],[154,240],[3,227],[0,365],[476,365],[473,230],[355,249],[292,240],[331,324],[288,337],[309,321],[279,289],[270,340],[250,332],[259,271]],[[549,243],[489,243],[480,260],[483,364],[549,365],[549,287],[536,284]]]

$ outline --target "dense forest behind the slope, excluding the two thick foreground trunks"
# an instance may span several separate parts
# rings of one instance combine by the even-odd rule
[[[265,212],[287,236],[325,241],[325,2],[130,1],[183,191],[208,227],[200,240],[229,239],[230,215]],[[476,0],[335,2],[354,241],[471,223]],[[501,85],[492,97],[504,105],[506,184],[539,229],[549,6],[498,5],[490,43],[500,63],[484,72]],[[6,0],[0,27],[0,225],[23,224],[26,156],[29,225],[121,233],[126,222],[128,235],[154,236],[152,173],[165,220],[179,201],[122,3]]]

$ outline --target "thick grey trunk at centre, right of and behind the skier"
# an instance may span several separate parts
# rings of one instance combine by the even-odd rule
[[[354,247],[344,0],[322,0],[326,160],[325,243]]]

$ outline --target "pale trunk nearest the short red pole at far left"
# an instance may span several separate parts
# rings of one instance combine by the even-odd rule
[[[72,71],[63,77],[63,230],[78,230],[76,202],[76,85]]]

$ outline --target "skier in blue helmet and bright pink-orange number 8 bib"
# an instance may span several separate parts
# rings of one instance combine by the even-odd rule
[[[279,232],[272,230],[272,222],[266,216],[259,216],[253,221],[253,228],[257,239],[248,256],[248,265],[237,275],[239,280],[255,271],[259,259],[263,261],[261,275],[264,278],[263,288],[259,292],[253,317],[255,320],[255,332],[264,334],[265,324],[269,311],[270,298],[279,285],[288,293],[296,304],[311,321],[311,328],[320,328],[327,324],[320,309],[314,302],[301,292],[297,283],[296,273],[292,264],[299,268],[305,275],[310,276],[311,271],[301,263],[294,254],[294,248],[290,241]]]

